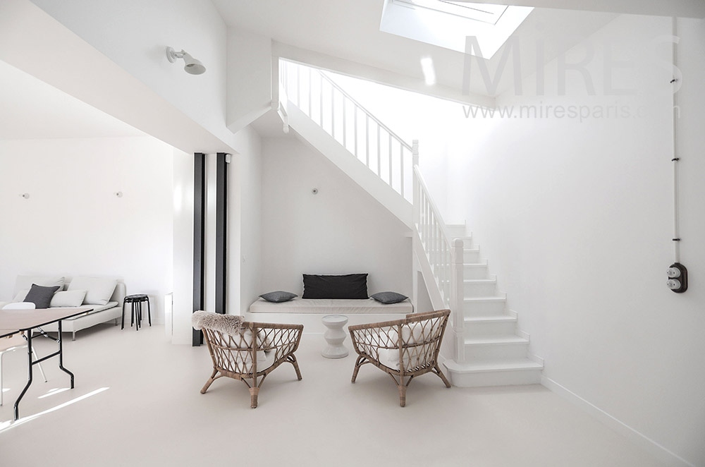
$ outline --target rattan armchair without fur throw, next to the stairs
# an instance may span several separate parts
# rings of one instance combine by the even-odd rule
[[[424,373],[435,373],[450,387],[438,363],[448,315],[450,310],[430,311],[406,315],[403,320],[349,326],[358,355],[353,383],[360,367],[372,363],[394,380],[402,407],[406,405],[406,388]]]

